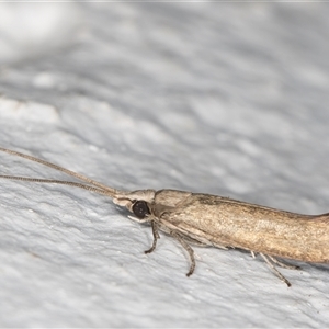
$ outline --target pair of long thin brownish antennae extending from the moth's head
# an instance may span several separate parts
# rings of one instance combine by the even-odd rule
[[[84,185],[84,184],[79,184],[79,183],[73,183],[73,182],[67,182],[67,181],[56,181],[56,180],[43,180],[43,179],[34,179],[34,178],[30,179],[30,178],[23,178],[23,177],[1,175],[1,178],[3,178],[3,179],[12,179],[12,180],[21,180],[21,181],[30,181],[30,182],[41,182],[41,183],[57,183],[57,184],[65,184],[65,185],[71,185],[71,186],[79,186],[81,189],[89,190],[89,191],[94,191],[94,192],[98,192],[98,193],[101,193],[101,194],[109,195],[111,197],[114,197],[116,194],[122,193],[122,191],[118,191],[116,189],[112,189],[110,186],[106,186],[106,185],[104,185],[104,184],[102,184],[98,181],[94,181],[94,180],[92,180],[92,179],[90,179],[90,178],[88,178],[88,177],[86,177],[81,173],[71,171],[69,169],[63,168],[58,164],[48,162],[46,160],[42,160],[42,159],[32,157],[32,156],[29,156],[29,155],[25,155],[25,154],[21,154],[21,152],[11,150],[11,149],[3,148],[3,147],[0,147],[0,151],[3,151],[5,154],[12,155],[12,156],[18,156],[18,157],[27,159],[30,161],[38,162],[38,163],[41,163],[43,166],[46,166],[46,167],[50,167],[55,170],[61,171],[61,172],[64,172],[68,175],[75,177],[75,178],[77,178],[81,181],[90,183],[91,185],[100,188],[100,189],[93,188],[94,190],[92,190],[91,189],[92,186],[90,186],[90,185]]]

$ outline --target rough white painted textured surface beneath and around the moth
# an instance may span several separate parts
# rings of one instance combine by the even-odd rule
[[[23,47],[5,61],[0,49],[1,146],[118,189],[329,211],[328,5],[52,5],[58,50],[35,42],[39,56]],[[39,22],[30,39],[42,39]],[[2,23],[0,38],[19,23]],[[0,172],[66,179],[2,154]],[[329,324],[328,265],[282,270],[287,288],[259,258],[195,248],[186,279],[175,241],[162,235],[145,256],[148,226],[64,186],[1,181],[0,214],[1,327]]]

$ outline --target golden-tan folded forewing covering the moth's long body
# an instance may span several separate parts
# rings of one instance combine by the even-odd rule
[[[327,214],[299,215],[215,195],[191,194],[163,219],[172,229],[219,248],[329,262]]]

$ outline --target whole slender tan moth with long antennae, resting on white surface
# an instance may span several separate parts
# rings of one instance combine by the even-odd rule
[[[302,215],[228,197],[177,190],[120,191],[25,154],[2,147],[0,151],[50,167],[83,183],[0,175],[2,179],[56,183],[97,192],[110,196],[114,204],[126,207],[134,215],[128,216],[131,219],[149,223],[154,241],[146,253],[156,249],[160,238],[159,230],[171,236],[190,256],[188,276],[195,269],[191,245],[220,249],[237,248],[250,251],[252,257],[260,254],[287,286],[291,286],[291,283],[275,265],[286,269],[299,268],[283,263],[277,258],[329,263],[329,213]]]

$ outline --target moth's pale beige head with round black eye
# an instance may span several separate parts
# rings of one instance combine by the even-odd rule
[[[113,202],[126,207],[138,219],[144,219],[150,215],[150,205],[155,201],[155,190],[137,190],[116,194]]]

